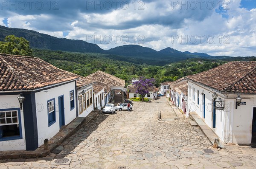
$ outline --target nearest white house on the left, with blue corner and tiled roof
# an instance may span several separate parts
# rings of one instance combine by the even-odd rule
[[[39,58],[0,54],[0,150],[35,150],[78,117],[80,78]],[[93,88],[84,86],[90,104]]]

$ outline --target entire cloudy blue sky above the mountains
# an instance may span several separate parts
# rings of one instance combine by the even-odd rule
[[[0,25],[103,49],[256,56],[256,0],[0,0]]]

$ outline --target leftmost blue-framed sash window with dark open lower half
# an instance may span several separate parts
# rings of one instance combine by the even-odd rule
[[[0,141],[22,138],[20,109],[0,109]]]

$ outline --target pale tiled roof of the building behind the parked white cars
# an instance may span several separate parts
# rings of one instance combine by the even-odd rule
[[[111,86],[123,86],[123,87],[125,87],[125,81],[124,80],[119,79],[118,77],[113,76],[111,74],[102,72],[100,70],[86,76],[86,79],[90,79],[90,80],[100,82],[100,83],[103,83],[103,84],[107,84],[107,85],[111,85]]]

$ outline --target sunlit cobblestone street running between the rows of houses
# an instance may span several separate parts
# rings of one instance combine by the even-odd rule
[[[163,121],[157,119],[159,110]],[[213,149],[200,128],[190,125],[189,118],[177,117],[166,97],[134,103],[130,112],[99,114],[58,150],[45,158],[1,160],[0,169],[256,168],[256,149],[237,145]],[[57,158],[70,161],[57,165]]]

